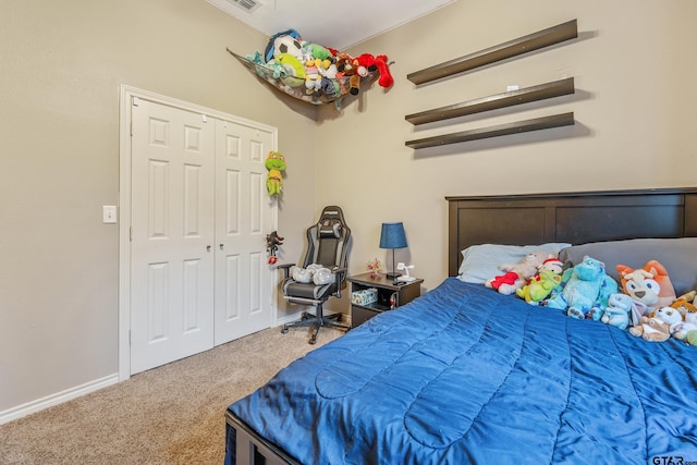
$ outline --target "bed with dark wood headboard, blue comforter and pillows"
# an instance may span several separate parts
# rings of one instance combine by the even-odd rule
[[[570,264],[592,254],[609,273],[660,259],[676,292],[696,289],[697,189],[447,200],[449,278],[230,405],[225,463],[697,463],[697,347],[529,305],[477,276],[545,246]]]

